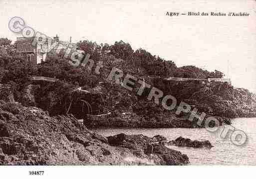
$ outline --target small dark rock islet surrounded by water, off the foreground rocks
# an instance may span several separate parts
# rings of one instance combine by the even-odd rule
[[[192,141],[183,137],[178,137],[174,141],[167,143],[168,145],[175,145],[178,147],[191,147],[191,148],[212,148],[212,144],[209,141]]]

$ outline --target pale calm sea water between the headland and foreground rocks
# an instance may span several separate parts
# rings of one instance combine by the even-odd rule
[[[209,140],[214,146],[212,149],[193,149],[176,146],[167,146],[188,155],[191,165],[256,165],[256,118],[237,118],[232,121],[232,126],[243,130],[248,141],[243,146],[234,145],[230,138],[221,138],[223,127],[216,132],[206,129],[97,129],[103,136],[119,133],[143,134],[149,137],[163,135],[168,140],[175,140],[179,136],[191,140]],[[230,133],[229,133],[230,134]]]

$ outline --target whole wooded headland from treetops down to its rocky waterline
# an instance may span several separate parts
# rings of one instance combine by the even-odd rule
[[[89,41],[80,42],[80,50],[91,54],[89,44]],[[177,104],[183,101],[196,107],[198,114],[204,112],[207,116],[217,117],[221,124],[230,124],[230,119],[236,117],[256,117],[256,97],[246,89],[237,89],[228,83],[209,83],[205,80],[164,80],[170,76],[222,78],[224,74],[218,70],[209,72],[195,66],[177,68],[174,62],[151,55],[143,49],[134,51],[123,41],[111,46],[106,45],[104,48],[95,45],[98,50],[108,51],[103,56],[96,55],[102,54],[102,51],[91,54],[92,60],[103,62],[104,67],[100,69],[100,75],[95,74],[95,67],[90,70],[83,66],[74,67],[55,53],[47,54],[47,61],[36,66],[29,65],[21,56],[3,55],[0,58],[3,67],[3,70],[0,70],[1,83],[13,84],[13,87],[11,90],[9,87],[0,89],[0,93],[3,93],[0,98],[11,102],[15,100],[24,106],[36,106],[48,111],[50,116],[73,114],[76,118],[84,119],[88,114],[101,115],[112,112],[113,115],[109,117],[93,117],[91,122],[86,120],[91,127],[199,127],[186,120],[189,114],[177,116],[177,108],[166,111],[161,105],[147,100],[150,88],[146,88],[143,94],[138,96],[137,84],[133,91],[129,91],[120,84],[107,80],[111,69],[118,67],[124,74],[145,79],[151,88],[154,86],[162,90],[163,96],[174,96]],[[114,49],[127,53],[120,56]],[[59,81],[35,82],[31,81],[31,76],[45,76]],[[39,87],[35,88],[31,84],[38,84]],[[79,87],[83,91],[77,90]],[[162,99],[160,98],[160,103]]]

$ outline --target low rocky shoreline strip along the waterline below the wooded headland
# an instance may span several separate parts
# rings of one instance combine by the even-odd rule
[[[230,125],[231,119],[215,116],[220,125]],[[189,121],[189,116],[177,117],[175,114],[154,116],[124,113],[118,115],[88,116],[84,124],[88,128],[203,128],[197,121]]]

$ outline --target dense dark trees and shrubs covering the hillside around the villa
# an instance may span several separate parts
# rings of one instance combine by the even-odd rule
[[[114,66],[136,77],[152,77],[151,84],[161,89],[164,94],[175,96],[178,102],[185,101],[195,105],[200,112],[232,118],[256,111],[256,97],[248,90],[236,89],[227,83],[163,80],[170,76],[222,78],[222,72],[209,72],[195,66],[178,68],[173,61],[164,60],[141,48],[133,50],[129,43],[123,41],[113,45],[98,45],[91,41],[80,41],[77,44],[85,54],[90,54],[95,64],[103,62],[104,68],[100,69],[100,75],[94,72],[96,65],[91,70],[82,66],[74,67],[68,63],[68,59],[62,59],[62,53],[50,52],[46,62],[33,66],[15,53],[15,46],[8,42],[6,39],[0,39],[0,43],[5,44],[8,49],[6,53],[0,54],[0,83],[11,86],[15,101],[21,103],[26,93],[24,89],[32,85],[30,87],[34,101],[29,105],[47,110],[51,115],[73,113],[82,117],[84,114],[102,114],[106,109],[144,114],[148,118],[165,113],[160,106],[146,100],[149,90],[139,97],[134,91],[127,91],[120,85],[107,81],[107,76]],[[30,80],[33,75],[58,78],[60,81],[35,83]],[[78,87],[83,87],[91,93],[77,91]],[[89,103],[92,110],[88,105],[84,107],[81,101]]]

